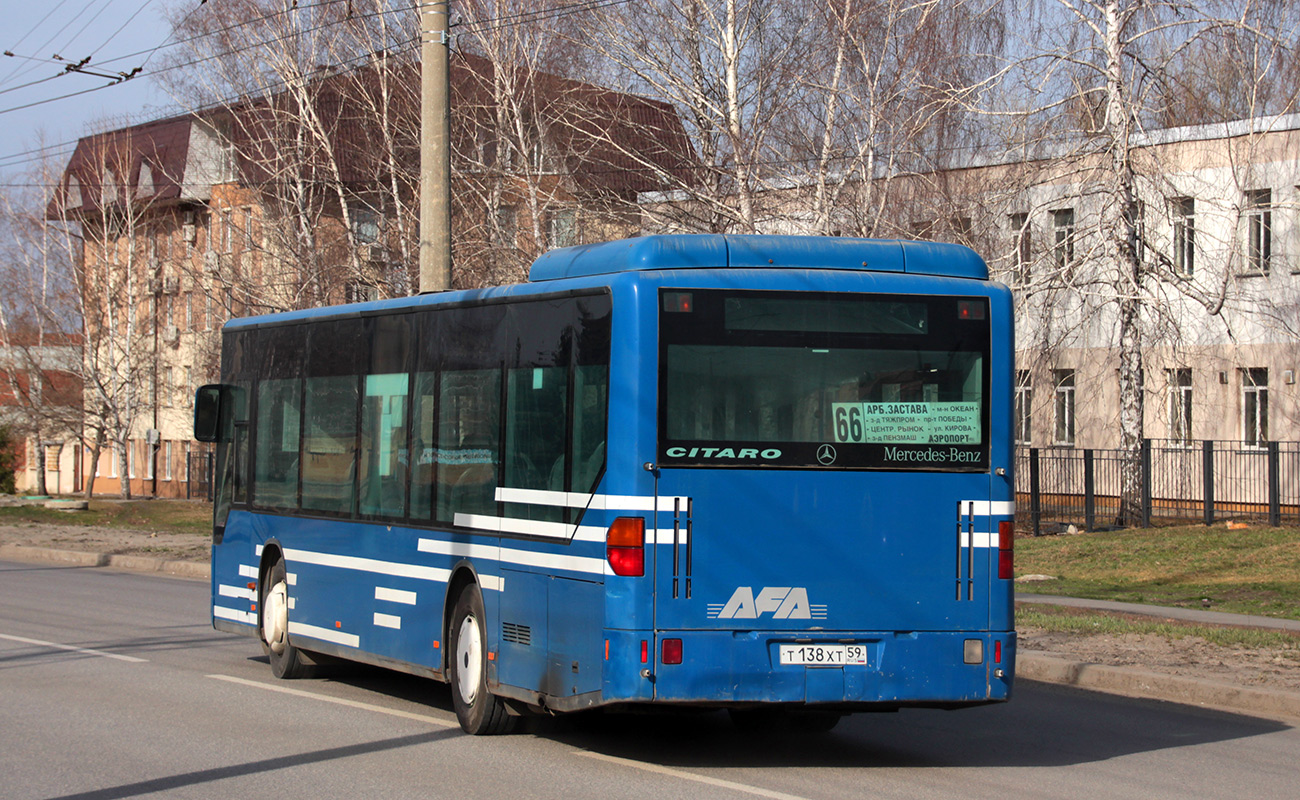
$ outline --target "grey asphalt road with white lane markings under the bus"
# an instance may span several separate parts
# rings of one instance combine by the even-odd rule
[[[270,675],[208,585],[0,562],[0,797],[1290,797],[1286,725],[1022,682],[1010,704],[753,739],[722,714],[462,735],[446,687]]]

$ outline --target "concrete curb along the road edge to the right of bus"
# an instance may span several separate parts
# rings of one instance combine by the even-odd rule
[[[1243,687],[1202,678],[1152,673],[1138,667],[1088,663],[1024,650],[1017,653],[1015,676],[1126,697],[1300,719],[1300,692],[1284,689]]]

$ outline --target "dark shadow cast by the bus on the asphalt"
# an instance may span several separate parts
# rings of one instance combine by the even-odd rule
[[[324,680],[448,714],[446,684],[360,665]],[[1291,726],[1171,702],[1020,683],[1008,704],[853,714],[833,731],[746,735],[722,712],[601,713],[525,718],[516,735],[677,767],[1062,766],[1260,736]]]

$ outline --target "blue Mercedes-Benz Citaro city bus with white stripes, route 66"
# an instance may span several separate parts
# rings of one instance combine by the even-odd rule
[[[1011,298],[965,247],[642,237],[222,336],[212,620],[277,676],[426,675],[471,734],[1010,696]]]

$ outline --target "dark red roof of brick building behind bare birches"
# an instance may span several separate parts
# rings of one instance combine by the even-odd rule
[[[391,79],[381,86],[385,75]],[[452,139],[462,152],[474,147],[476,131],[494,116],[494,81],[489,60],[456,53],[451,66]],[[519,70],[508,86],[514,99],[528,99],[528,113],[546,131],[550,148],[563,159],[564,177],[577,191],[632,199],[638,191],[664,187],[664,176],[681,180],[688,174],[690,142],[667,103],[542,72]],[[337,168],[346,185],[364,191],[390,172],[384,163],[390,150],[385,138],[394,137],[403,172],[419,174],[419,62],[398,64],[387,73],[377,69],[377,62],[356,70],[322,70],[308,96],[315,118],[328,127],[335,159],[330,164],[324,153],[308,155],[298,159],[295,168],[308,173]],[[302,124],[295,107],[299,96],[282,91],[84,137],[77,143],[48,213],[98,212],[105,202],[121,202],[127,191],[151,203],[207,196],[187,190],[220,177],[211,164],[203,164],[203,159],[216,157],[216,151],[199,152],[205,138],[198,126],[208,131],[208,138],[220,130],[234,144],[240,182],[259,186],[278,180],[274,165],[282,155],[280,148],[292,142],[286,134]],[[396,121],[389,130],[376,122],[373,111],[384,104],[389,118]]]

